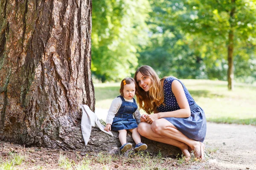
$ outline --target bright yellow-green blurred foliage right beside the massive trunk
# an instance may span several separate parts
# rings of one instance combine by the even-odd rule
[[[104,82],[130,77],[146,45],[147,0],[93,1],[92,73]]]

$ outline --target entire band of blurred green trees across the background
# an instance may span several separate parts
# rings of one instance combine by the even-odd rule
[[[92,74],[256,81],[256,0],[94,0]]]

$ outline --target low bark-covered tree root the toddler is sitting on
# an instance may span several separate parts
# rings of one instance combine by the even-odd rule
[[[88,151],[95,151],[95,152],[102,152],[106,151],[108,153],[117,154],[119,153],[119,147],[121,146],[121,143],[119,142],[118,138],[118,132],[112,131],[113,136],[108,135],[107,133],[102,132],[99,130],[98,127],[93,127],[90,140],[83,149],[85,152]],[[178,147],[169,145],[169,144],[163,144],[160,142],[151,141],[149,139],[146,139],[142,136],[141,138],[142,142],[148,145],[148,149],[146,152],[150,153],[152,156],[156,156],[161,153],[164,157],[175,157],[178,154],[181,155],[181,150]],[[128,132],[127,135],[127,142],[130,142],[133,144],[132,150],[134,149],[135,143],[131,137],[131,133]]]

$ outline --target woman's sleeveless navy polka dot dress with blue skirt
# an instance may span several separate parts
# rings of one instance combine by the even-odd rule
[[[204,142],[206,135],[206,117],[204,110],[195,103],[185,85],[176,77],[167,77],[163,82],[164,105],[160,105],[157,110],[160,112],[176,111],[180,109],[177,100],[172,93],[172,82],[179,81],[183,85],[183,90],[189,102],[191,116],[188,118],[166,117],[164,119],[171,122],[181,133],[189,139]]]

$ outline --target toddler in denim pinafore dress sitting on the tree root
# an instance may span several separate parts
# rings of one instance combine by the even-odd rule
[[[127,130],[132,133],[132,138],[136,143],[134,150],[147,149],[147,145],[141,142],[140,134],[137,131],[137,124],[140,123],[140,112],[133,98],[135,83],[135,80],[131,77],[122,79],[119,90],[121,95],[113,99],[106,119],[105,130],[117,130],[119,132],[119,140],[122,144],[119,148],[121,152],[126,152],[132,147],[131,143],[126,143]]]

